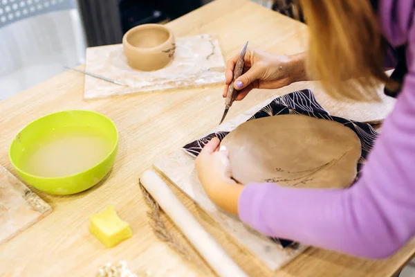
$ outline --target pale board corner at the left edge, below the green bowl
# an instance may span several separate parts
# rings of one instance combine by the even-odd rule
[[[0,244],[51,212],[46,202],[0,166]]]

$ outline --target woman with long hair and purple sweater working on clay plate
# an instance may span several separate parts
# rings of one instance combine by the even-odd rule
[[[351,188],[337,190],[241,186],[231,178],[228,152],[218,151],[219,140],[212,139],[196,159],[199,179],[212,202],[265,235],[385,258],[415,234],[415,0],[299,3],[310,28],[308,53],[250,50],[247,69],[233,84],[237,57],[228,62],[227,84],[239,90],[237,100],[254,88],[310,79],[322,80],[329,93],[351,98],[376,98],[374,88],[386,84],[398,100],[362,176]],[[396,67],[392,78],[384,65]],[[358,87],[344,86],[351,77],[362,77],[354,82]]]

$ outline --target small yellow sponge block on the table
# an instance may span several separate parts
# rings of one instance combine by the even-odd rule
[[[118,217],[111,205],[102,213],[91,215],[89,221],[89,231],[106,247],[113,247],[133,235],[129,224]]]

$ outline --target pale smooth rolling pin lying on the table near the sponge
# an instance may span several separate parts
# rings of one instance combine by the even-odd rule
[[[178,200],[165,182],[153,170],[145,171],[140,182],[149,194],[158,202],[163,211],[173,220],[190,240],[194,248],[219,276],[248,276],[238,267],[222,247],[203,229],[196,218]]]

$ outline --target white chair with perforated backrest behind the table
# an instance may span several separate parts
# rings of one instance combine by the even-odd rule
[[[75,0],[0,0],[0,100],[84,63]]]

